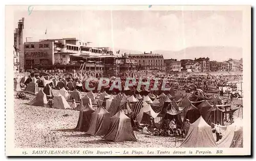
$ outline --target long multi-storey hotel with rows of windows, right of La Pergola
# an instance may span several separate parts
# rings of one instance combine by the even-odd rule
[[[137,60],[137,65],[141,66],[142,70],[165,70],[164,58],[160,54],[144,53],[144,54],[130,54],[130,58]]]

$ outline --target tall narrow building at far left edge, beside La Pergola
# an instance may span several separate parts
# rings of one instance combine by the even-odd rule
[[[23,48],[23,29],[24,18],[18,20],[18,28],[14,30],[14,71],[19,72],[24,70],[24,48]],[[17,62],[16,62],[17,61]]]

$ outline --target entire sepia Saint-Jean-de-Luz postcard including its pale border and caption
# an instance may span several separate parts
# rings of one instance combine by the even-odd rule
[[[251,155],[251,6],[5,13],[7,156]]]

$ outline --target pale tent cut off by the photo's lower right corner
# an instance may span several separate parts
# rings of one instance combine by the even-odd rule
[[[239,122],[239,123],[238,123]],[[225,135],[218,143],[219,148],[243,148],[243,124],[238,120],[227,126]]]

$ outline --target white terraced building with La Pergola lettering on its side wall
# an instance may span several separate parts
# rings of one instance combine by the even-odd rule
[[[90,42],[82,42],[76,38],[47,39],[38,42],[25,42],[25,68],[41,65],[61,64],[70,62],[70,55],[83,57],[113,54],[109,48],[92,48],[87,46]]]

